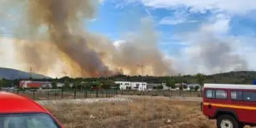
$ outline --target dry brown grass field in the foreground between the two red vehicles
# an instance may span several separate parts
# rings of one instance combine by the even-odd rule
[[[133,99],[92,105],[46,105],[68,128],[198,128],[215,127],[198,102]]]

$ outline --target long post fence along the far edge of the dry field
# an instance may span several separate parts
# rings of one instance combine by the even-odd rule
[[[14,91],[19,95],[31,97],[33,100],[60,100],[60,99],[82,99],[97,97],[114,97],[115,95],[151,95],[164,97],[200,97],[200,92],[195,91],[169,91],[169,90],[40,90]]]

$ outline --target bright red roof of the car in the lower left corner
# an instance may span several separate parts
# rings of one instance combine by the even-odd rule
[[[43,112],[49,113],[37,102],[11,92],[0,91],[0,113],[28,113]]]

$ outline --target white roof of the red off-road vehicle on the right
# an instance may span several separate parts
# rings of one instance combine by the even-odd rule
[[[233,84],[210,84],[203,85],[204,88],[227,88],[227,89],[240,89],[240,90],[256,90],[256,85],[233,85]]]

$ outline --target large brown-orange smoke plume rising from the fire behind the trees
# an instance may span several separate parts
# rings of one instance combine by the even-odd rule
[[[118,48],[99,33],[84,29],[84,20],[97,14],[97,1],[9,0],[1,1],[1,12],[16,9],[13,36],[16,60],[23,70],[49,73],[60,60],[63,72],[74,77],[99,77],[120,73],[171,75],[171,60],[157,46],[158,38],[149,20]],[[58,64],[57,64],[58,65]]]

